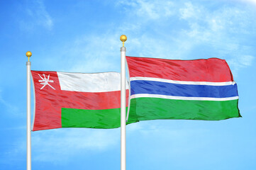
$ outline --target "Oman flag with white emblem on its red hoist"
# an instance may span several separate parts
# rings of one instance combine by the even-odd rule
[[[31,71],[31,74],[35,89],[33,131],[120,127],[119,73]]]

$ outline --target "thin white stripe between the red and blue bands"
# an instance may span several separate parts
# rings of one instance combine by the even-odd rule
[[[191,84],[191,85],[208,85],[208,86],[227,86],[227,85],[235,84],[235,81],[226,81],[226,82],[177,81],[177,80],[160,79],[160,78],[153,78],[153,77],[130,77],[130,81],[135,81],[135,80],[160,81],[160,82],[172,83],[172,84]]]

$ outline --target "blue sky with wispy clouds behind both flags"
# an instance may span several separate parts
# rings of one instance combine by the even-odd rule
[[[243,118],[127,127],[127,169],[256,169],[255,0],[0,1],[0,169],[26,169],[26,51],[32,69],[120,72],[135,57],[219,57]],[[33,108],[32,108],[33,111]],[[120,129],[32,132],[33,169],[120,169]]]

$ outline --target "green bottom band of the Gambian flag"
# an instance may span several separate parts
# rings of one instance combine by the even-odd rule
[[[155,119],[223,120],[241,117],[238,100],[184,101],[165,98],[133,98],[128,122]]]

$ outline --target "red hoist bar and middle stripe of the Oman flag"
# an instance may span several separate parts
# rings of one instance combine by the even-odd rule
[[[121,91],[103,93],[86,93],[78,91],[62,91],[57,72],[31,71],[35,88],[35,120],[33,131],[53,128],[61,128],[61,108],[79,108],[89,110],[101,110],[120,108]],[[50,86],[43,86],[38,82],[40,77],[48,78]],[[41,89],[41,90],[40,90]],[[126,91],[126,106],[128,106],[128,90]]]

